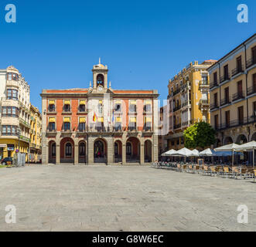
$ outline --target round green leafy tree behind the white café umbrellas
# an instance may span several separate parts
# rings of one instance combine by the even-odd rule
[[[216,142],[215,134],[216,131],[209,123],[195,123],[184,131],[185,147],[205,148],[213,145]]]

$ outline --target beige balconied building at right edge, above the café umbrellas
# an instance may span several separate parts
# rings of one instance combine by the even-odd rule
[[[217,144],[256,140],[256,34],[208,69]]]

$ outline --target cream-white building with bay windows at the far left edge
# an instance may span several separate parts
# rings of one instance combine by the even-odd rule
[[[30,87],[18,69],[0,69],[0,157],[29,151]]]

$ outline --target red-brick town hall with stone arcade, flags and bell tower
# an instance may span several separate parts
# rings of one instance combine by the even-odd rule
[[[150,164],[158,160],[157,90],[114,90],[95,65],[87,89],[43,90],[43,164]]]

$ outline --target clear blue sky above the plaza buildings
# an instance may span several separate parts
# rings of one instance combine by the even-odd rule
[[[17,22],[5,22],[5,5]],[[237,22],[237,5],[249,22]],[[42,89],[88,87],[91,69],[108,65],[114,89],[156,89],[190,61],[220,59],[256,30],[256,1],[1,1],[0,68],[15,66],[41,109]]]

